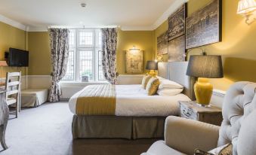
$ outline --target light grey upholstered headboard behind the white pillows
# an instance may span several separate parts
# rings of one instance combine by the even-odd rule
[[[159,76],[184,86],[184,94],[195,100],[194,84],[196,78],[187,76],[188,62],[159,62]]]

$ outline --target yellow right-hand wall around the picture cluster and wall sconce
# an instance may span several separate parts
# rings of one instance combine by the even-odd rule
[[[188,16],[208,2],[211,0],[190,0]],[[208,54],[223,56],[224,78],[211,79],[214,88],[218,90],[227,90],[230,84],[236,81],[256,82],[256,23],[248,26],[245,24],[245,18],[236,14],[238,2],[239,0],[223,0],[222,41],[202,47]],[[156,37],[167,29],[168,23],[165,22],[155,30],[154,48]],[[190,54],[198,52],[193,50]],[[164,57],[166,60],[167,56]]]

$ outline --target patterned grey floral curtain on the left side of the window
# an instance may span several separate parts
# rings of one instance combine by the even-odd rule
[[[60,101],[61,91],[59,82],[66,74],[69,57],[68,29],[49,29],[51,45],[52,81],[48,101]]]

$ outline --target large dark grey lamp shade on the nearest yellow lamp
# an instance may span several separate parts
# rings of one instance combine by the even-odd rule
[[[223,78],[221,56],[190,56],[187,75],[196,78]]]

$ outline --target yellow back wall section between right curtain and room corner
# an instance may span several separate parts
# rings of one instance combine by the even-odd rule
[[[153,31],[119,31],[117,44],[117,69],[119,74],[125,74],[125,50],[135,45],[143,50],[143,71],[147,60],[153,60]]]

